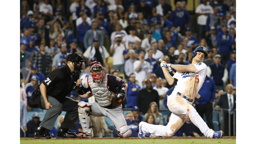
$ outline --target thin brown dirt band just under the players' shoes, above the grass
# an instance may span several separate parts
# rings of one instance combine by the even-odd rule
[[[51,140],[79,140],[80,138],[75,138],[75,139],[56,139],[56,138],[51,138]],[[117,140],[117,139],[124,139],[124,138],[91,138],[91,139],[86,139],[86,140]],[[138,137],[130,137],[126,138],[128,139],[140,139]],[[172,137],[172,138],[166,138],[166,137],[158,137],[158,138],[146,138],[146,139],[207,139],[206,137]],[[236,140],[236,137],[222,137],[221,139],[229,139],[229,140]],[[20,138],[20,140],[39,140],[39,139],[34,139],[34,138]],[[40,139],[40,140],[48,140],[48,139]],[[84,140],[84,139],[80,139]]]

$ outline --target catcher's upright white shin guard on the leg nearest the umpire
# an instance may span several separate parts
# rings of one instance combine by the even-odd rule
[[[81,101],[78,103],[78,116],[79,120],[83,129],[83,132],[79,132],[77,134],[77,137],[79,138],[92,138],[93,137],[93,131],[91,127],[91,118],[90,118],[90,110],[91,110],[90,103],[86,103],[84,101]]]

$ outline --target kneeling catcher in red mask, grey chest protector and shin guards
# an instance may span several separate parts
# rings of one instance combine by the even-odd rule
[[[83,132],[77,135],[79,138],[92,138],[93,131],[89,115],[96,117],[106,116],[114,124],[117,134],[122,138],[130,137],[132,131],[128,128],[122,109],[125,100],[127,83],[119,77],[106,73],[100,62],[94,61],[88,71],[89,76],[85,80],[76,82],[76,91],[81,98],[94,96],[96,102],[78,103],[79,120]],[[80,85],[82,83],[82,85]],[[119,93],[117,94],[117,88]],[[90,91],[90,92],[88,92]]]

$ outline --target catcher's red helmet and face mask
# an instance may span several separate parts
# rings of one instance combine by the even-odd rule
[[[88,70],[89,76],[93,78],[97,85],[100,85],[103,77],[106,75],[106,68],[103,68],[100,62],[94,61]]]

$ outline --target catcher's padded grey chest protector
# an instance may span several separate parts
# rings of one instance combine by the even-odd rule
[[[95,85],[96,83],[93,82],[93,78],[91,76],[88,77],[88,83],[92,90],[92,95],[95,97],[97,102],[103,106],[109,106],[111,102],[108,100],[108,96],[111,94],[111,92],[107,88],[107,82],[108,82],[108,74],[106,74],[103,78],[103,81],[101,85]]]

